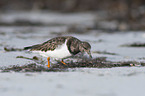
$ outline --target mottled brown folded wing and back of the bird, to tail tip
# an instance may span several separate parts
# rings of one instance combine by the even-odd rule
[[[25,50],[30,49],[30,51],[34,51],[34,50],[40,50],[45,52],[48,50],[53,51],[59,45],[62,45],[65,42],[65,40],[66,40],[65,37],[56,37],[44,42],[43,44],[28,46],[25,47],[24,49]]]

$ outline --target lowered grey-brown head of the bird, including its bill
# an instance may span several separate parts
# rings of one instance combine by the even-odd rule
[[[88,55],[90,56],[90,58],[92,58],[91,55],[91,45],[88,42],[81,42],[80,46],[79,46],[79,50],[81,52],[87,52]]]

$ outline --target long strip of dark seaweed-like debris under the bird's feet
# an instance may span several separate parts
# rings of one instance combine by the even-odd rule
[[[13,65],[5,68],[0,68],[1,72],[66,72],[70,68],[112,68],[112,67],[132,67],[145,66],[145,63],[138,63],[136,61],[130,62],[111,62],[107,61],[105,57],[95,59],[82,59],[79,62],[70,61],[67,65],[63,65],[60,61],[47,68],[43,64],[31,63],[27,65]]]

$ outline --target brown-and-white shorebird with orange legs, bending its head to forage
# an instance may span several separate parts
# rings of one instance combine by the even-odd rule
[[[43,57],[47,57],[48,68],[50,68],[50,58],[61,59],[61,63],[64,65],[67,64],[63,59],[69,58],[80,52],[86,52],[89,57],[92,58],[91,45],[88,42],[81,41],[73,36],[54,37],[42,44],[24,47],[24,50],[36,52]]]

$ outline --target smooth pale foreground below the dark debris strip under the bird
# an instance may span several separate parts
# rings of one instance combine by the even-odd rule
[[[0,73],[1,96],[144,96],[145,68]]]

